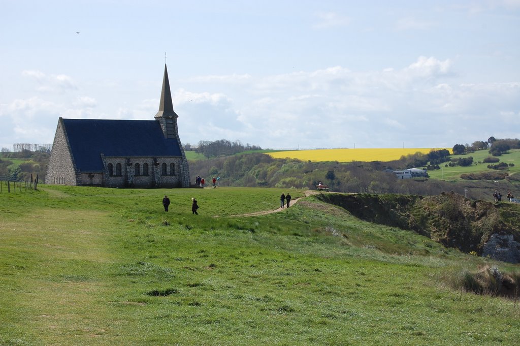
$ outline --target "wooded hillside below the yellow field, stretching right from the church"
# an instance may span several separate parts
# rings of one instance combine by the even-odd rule
[[[391,162],[342,163],[274,159],[266,154],[250,153],[190,161],[189,165],[192,177],[220,177],[220,186],[314,189],[319,182],[323,182],[330,186],[332,191],[341,193],[434,196],[443,191],[454,191],[472,199],[492,200],[491,195],[495,189],[502,191],[502,195],[511,191],[515,196],[520,196],[520,183],[517,181],[516,173],[516,169],[520,168],[520,150],[511,151],[510,154],[501,157],[501,160],[506,162],[516,162],[509,169],[511,175],[507,175],[508,170],[488,169],[487,163],[477,162],[467,167],[443,166],[440,170],[428,171],[432,178],[409,180],[398,180],[392,170],[423,166],[426,164],[424,158],[411,156]],[[484,150],[477,153],[482,158],[488,155]],[[502,175],[499,180],[496,180],[495,176],[491,176],[491,180],[453,178],[454,174],[460,177],[461,174],[483,171],[506,175]]]

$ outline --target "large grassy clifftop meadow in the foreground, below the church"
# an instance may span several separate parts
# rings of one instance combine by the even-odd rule
[[[287,190],[0,194],[1,345],[515,344],[513,301],[443,278],[501,263]],[[167,194],[170,212],[161,206]],[[293,198],[302,191],[291,191]],[[200,215],[192,215],[196,197]]]

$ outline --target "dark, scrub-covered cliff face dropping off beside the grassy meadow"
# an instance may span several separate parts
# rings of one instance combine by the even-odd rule
[[[495,204],[454,193],[427,197],[320,194],[318,198],[359,219],[410,229],[446,247],[476,251],[500,261],[520,261],[520,248],[515,245],[520,241],[517,203]],[[503,236],[511,241],[503,240]]]

